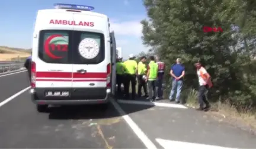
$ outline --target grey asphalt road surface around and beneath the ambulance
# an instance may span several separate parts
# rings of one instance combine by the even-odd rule
[[[0,76],[0,82],[0,105],[29,86],[27,72]],[[143,102],[146,105],[129,102],[114,102],[107,111],[97,106],[68,106],[53,107],[49,114],[39,114],[27,90],[0,106],[0,148],[254,149],[256,146],[254,135],[203,112],[170,103],[153,106],[147,105],[148,102]]]

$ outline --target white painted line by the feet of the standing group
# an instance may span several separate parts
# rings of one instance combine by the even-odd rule
[[[146,101],[130,101],[130,100],[117,100],[119,103],[137,104],[137,105],[152,105],[152,106],[165,106],[170,108],[187,109],[187,106],[175,103],[160,103],[160,102],[146,102]]]

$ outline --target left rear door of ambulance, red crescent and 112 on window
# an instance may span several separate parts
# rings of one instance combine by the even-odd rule
[[[73,26],[63,24],[63,20],[72,21],[72,15],[53,11],[39,11],[37,15],[32,66],[36,67],[36,89],[49,92],[46,96],[63,92],[68,98],[72,88]]]

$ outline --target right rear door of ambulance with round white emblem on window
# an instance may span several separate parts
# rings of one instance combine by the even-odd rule
[[[74,13],[73,99],[104,99],[107,95],[108,60],[105,22],[101,17]]]

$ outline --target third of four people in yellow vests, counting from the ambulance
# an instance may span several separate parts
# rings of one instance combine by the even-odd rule
[[[142,88],[144,90],[145,93],[145,97],[148,96],[148,90],[147,90],[147,86],[146,86],[146,82],[143,79],[143,76],[146,75],[146,57],[142,56],[140,57],[140,62],[138,63],[138,76],[137,76],[137,80],[138,80],[138,90],[137,90],[137,95],[140,97],[142,95]]]

